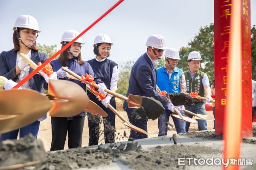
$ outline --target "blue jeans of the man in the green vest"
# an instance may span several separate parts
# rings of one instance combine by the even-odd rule
[[[200,105],[192,106],[192,107],[185,106],[185,109],[188,110],[188,111],[191,111],[193,113],[206,115],[204,103],[202,103]],[[189,116],[190,118],[193,117],[192,115],[190,115],[188,113],[185,113],[185,115]],[[198,120],[198,119],[196,119],[196,120],[198,121],[198,130],[207,130],[206,120]],[[190,126],[190,123],[186,122],[186,132],[189,131],[189,126]]]

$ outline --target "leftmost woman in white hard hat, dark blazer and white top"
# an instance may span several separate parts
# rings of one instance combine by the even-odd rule
[[[31,71],[28,63],[21,57],[20,53],[25,54],[32,59],[35,63],[44,62],[47,60],[47,54],[40,53],[36,46],[36,39],[40,32],[37,20],[30,15],[21,15],[17,18],[13,27],[13,44],[14,48],[10,51],[3,51],[0,54],[0,76],[12,79],[15,82],[20,82]],[[35,74],[28,82],[22,85],[22,88],[29,88],[35,91],[42,91],[43,77],[39,74]],[[14,103],[15,105],[15,103]],[[38,121],[22,127],[11,132],[3,133],[0,136],[0,141],[6,139],[17,139],[20,131],[20,137],[24,137],[29,133],[37,137],[40,121],[44,120],[46,116],[38,119]]]

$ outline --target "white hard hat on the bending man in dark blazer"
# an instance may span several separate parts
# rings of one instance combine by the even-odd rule
[[[158,48],[161,50],[166,50],[168,48],[166,45],[165,38],[160,34],[153,34],[150,37],[148,37],[146,46]]]

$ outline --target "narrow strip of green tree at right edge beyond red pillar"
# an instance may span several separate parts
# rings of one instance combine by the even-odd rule
[[[252,79],[256,80],[256,26],[251,28]]]

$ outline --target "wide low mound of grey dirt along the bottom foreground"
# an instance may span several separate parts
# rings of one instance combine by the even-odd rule
[[[26,167],[22,170],[64,170],[79,169],[82,167],[92,168],[100,165],[108,165],[112,162],[118,162],[127,165],[135,170],[147,169],[174,169],[184,168],[184,165],[178,165],[178,158],[183,157],[202,157],[204,154],[221,153],[221,150],[215,150],[210,147],[200,145],[173,144],[169,146],[157,146],[151,149],[142,150],[137,142],[120,144],[116,146],[111,144],[103,148],[79,148],[73,150],[61,150],[58,152],[48,152],[47,161],[36,164],[33,167]],[[187,164],[186,160],[185,163]]]

